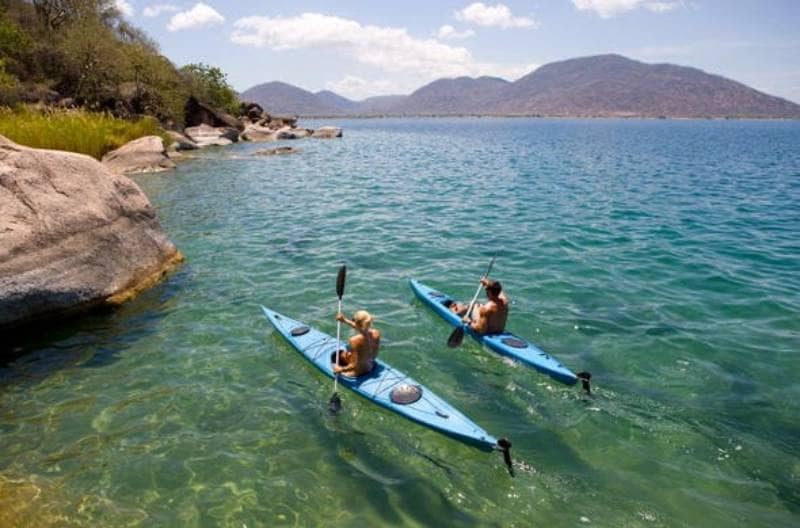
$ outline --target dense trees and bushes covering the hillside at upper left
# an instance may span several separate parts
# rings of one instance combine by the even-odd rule
[[[181,128],[192,96],[240,107],[219,68],[177,68],[113,0],[0,0],[0,105],[78,106]]]

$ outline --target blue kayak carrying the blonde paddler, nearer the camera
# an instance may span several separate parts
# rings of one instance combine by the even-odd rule
[[[261,307],[264,316],[304,358],[333,378],[333,357],[336,338],[300,321]],[[492,435],[455,407],[435,395],[414,379],[387,363],[376,360],[372,372],[358,377],[339,376],[339,384],[367,400],[430,427],[450,437],[475,445],[481,449],[503,449]],[[501,441],[501,444],[503,441]]]

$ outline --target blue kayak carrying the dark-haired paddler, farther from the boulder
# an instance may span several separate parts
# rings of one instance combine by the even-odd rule
[[[436,291],[433,288],[425,286],[419,281],[411,279],[411,289],[417,294],[417,297],[422,299],[425,304],[433,308],[433,310],[441,315],[445,321],[453,326],[461,326],[461,317],[450,311],[450,304],[453,303],[448,295]],[[528,366],[531,366],[547,374],[551,378],[565,383],[567,385],[574,385],[578,381],[578,376],[575,375],[567,367],[559,363],[553,356],[545,353],[533,343],[515,336],[511,332],[503,332],[501,334],[477,334],[469,327],[466,328],[466,333],[471,335],[479,343],[486,345],[495,352],[508,356],[512,359],[520,361]],[[581,373],[582,375],[584,373]],[[586,387],[584,387],[586,388]],[[588,390],[588,389],[587,389]]]

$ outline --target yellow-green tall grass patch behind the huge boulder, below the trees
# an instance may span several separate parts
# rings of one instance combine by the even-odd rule
[[[20,145],[80,152],[96,159],[143,136],[166,141],[151,117],[128,121],[86,110],[30,107],[0,108],[0,135]]]

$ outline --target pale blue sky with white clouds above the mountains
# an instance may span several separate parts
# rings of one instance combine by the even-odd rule
[[[117,0],[175,64],[237,90],[280,80],[362,99],[440,77],[514,80],[619,53],[693,66],[800,103],[800,0]]]

